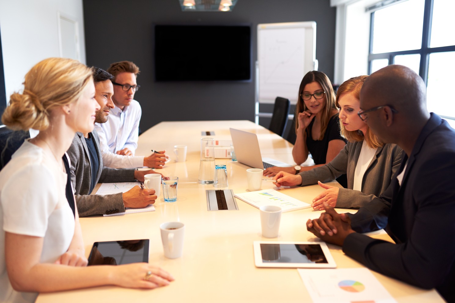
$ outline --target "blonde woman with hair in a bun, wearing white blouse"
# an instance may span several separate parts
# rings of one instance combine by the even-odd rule
[[[45,59],[25,75],[24,90],[11,95],[2,116],[10,129],[40,133],[0,171],[0,302],[101,285],[157,288],[173,280],[148,263],[86,267],[66,150],[76,131],[93,130],[100,106],[92,74],[76,60]]]

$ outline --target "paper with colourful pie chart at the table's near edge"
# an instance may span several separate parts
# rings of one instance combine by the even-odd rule
[[[298,268],[298,273],[314,303],[396,302],[368,268]]]

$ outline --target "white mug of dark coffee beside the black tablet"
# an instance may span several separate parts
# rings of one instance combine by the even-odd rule
[[[166,258],[182,257],[185,225],[180,222],[167,222],[160,225],[163,251]]]

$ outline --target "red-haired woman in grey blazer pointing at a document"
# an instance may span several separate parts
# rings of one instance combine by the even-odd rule
[[[337,92],[341,134],[349,141],[344,149],[326,165],[297,175],[279,172],[273,178],[277,187],[319,183],[325,190],[313,199],[313,209],[323,210],[324,202],[332,207],[360,208],[384,192],[399,169],[403,150],[396,144],[380,143],[364,121],[366,112],[360,110],[360,90],[367,78],[344,81]],[[347,174],[347,189],[321,183],[341,174]]]

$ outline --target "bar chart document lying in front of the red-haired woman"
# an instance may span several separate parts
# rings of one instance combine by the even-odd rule
[[[275,189],[263,189],[255,192],[247,192],[242,194],[234,194],[234,197],[259,208],[263,205],[277,205],[284,212],[297,209],[307,209],[310,204],[302,202],[298,199],[289,197]]]

